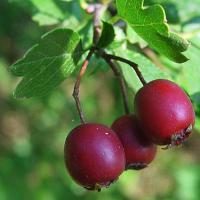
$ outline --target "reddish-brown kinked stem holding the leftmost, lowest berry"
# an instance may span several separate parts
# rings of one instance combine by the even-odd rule
[[[91,48],[91,50],[89,51],[86,59],[83,62],[83,65],[79,71],[78,77],[76,79],[76,83],[74,85],[73,94],[72,94],[72,96],[74,97],[74,100],[76,102],[76,107],[77,107],[77,111],[79,113],[80,120],[83,124],[85,123],[85,117],[84,117],[84,114],[81,109],[81,103],[80,103],[80,98],[79,98],[79,89],[80,89],[81,78],[86,72],[87,66],[89,64],[89,61],[90,61],[93,53],[94,53],[94,48]]]

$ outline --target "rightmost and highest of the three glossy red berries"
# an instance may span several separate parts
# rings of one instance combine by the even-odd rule
[[[142,87],[134,107],[140,126],[158,145],[181,144],[194,126],[195,113],[189,97],[169,80],[154,80]]]

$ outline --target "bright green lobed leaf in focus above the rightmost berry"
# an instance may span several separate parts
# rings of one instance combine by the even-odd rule
[[[164,9],[160,5],[143,7],[144,0],[117,0],[118,14],[148,44],[177,63],[188,59],[181,53],[189,43],[169,31]]]

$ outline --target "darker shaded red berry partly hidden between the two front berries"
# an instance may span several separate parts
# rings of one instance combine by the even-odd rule
[[[134,115],[124,115],[112,124],[125,151],[126,169],[143,169],[156,155],[156,145],[144,137]]]

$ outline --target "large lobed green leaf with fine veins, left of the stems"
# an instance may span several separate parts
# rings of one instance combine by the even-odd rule
[[[70,29],[55,29],[11,66],[11,72],[23,76],[16,98],[48,94],[75,69],[83,53],[79,35]]]

